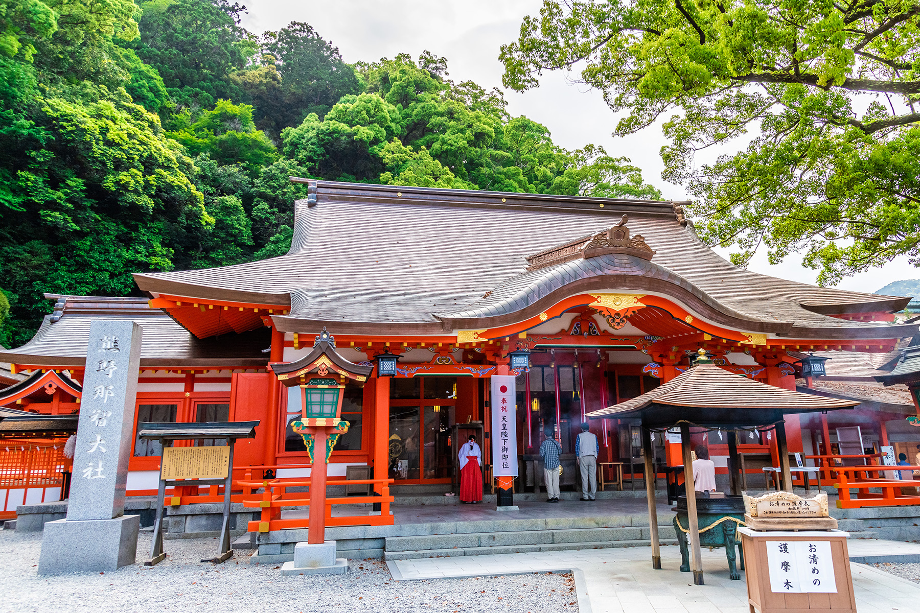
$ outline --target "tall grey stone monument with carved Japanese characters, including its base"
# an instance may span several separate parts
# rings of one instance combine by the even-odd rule
[[[45,524],[39,574],[114,571],[134,563],[140,516],[124,515],[142,328],[89,327],[67,517]]]

